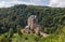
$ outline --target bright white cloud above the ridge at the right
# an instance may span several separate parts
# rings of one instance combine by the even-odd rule
[[[65,0],[50,0],[49,6],[65,8]]]

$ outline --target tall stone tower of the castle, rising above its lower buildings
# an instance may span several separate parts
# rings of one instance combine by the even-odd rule
[[[36,15],[31,15],[28,18],[28,26],[30,26],[30,29],[34,29],[35,25],[38,24],[38,18]]]

